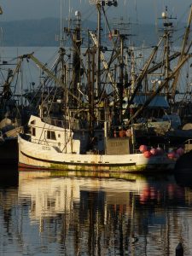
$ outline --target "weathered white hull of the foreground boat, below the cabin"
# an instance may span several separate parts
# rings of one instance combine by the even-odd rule
[[[19,166],[33,169],[98,172],[163,172],[175,166],[166,154],[65,154],[54,147],[28,142],[19,136]]]

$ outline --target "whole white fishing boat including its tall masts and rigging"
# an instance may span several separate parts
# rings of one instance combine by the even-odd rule
[[[28,130],[18,136],[20,170],[170,172],[177,158],[183,154],[182,148],[173,150],[166,148],[163,143],[138,144],[132,121],[159,95],[160,90],[167,86],[191,55],[184,55],[175,70],[167,74],[165,81],[148,95],[137,113],[133,113],[125,122],[125,34],[117,31],[111,33],[109,28],[110,34],[116,37],[115,41],[119,44],[114,45],[112,56],[106,61],[101,40],[101,14],[105,15],[107,3],[93,2],[98,10],[97,34],[88,32],[88,45],[83,54],[86,61],[82,61],[83,40],[78,11],[75,13],[73,29],[65,28],[72,40],[73,52],[67,54],[67,49],[61,45],[61,58],[56,61],[54,69],[49,70],[33,53],[21,56],[21,59],[34,61],[54,85],[46,85],[48,79],[45,79],[42,95],[39,96],[42,99],[39,113],[31,115]],[[110,6],[117,6],[116,1],[109,2]],[[114,58],[114,52],[118,57]],[[69,60],[71,56],[73,62],[67,63],[66,59]],[[119,69],[114,68],[116,63],[112,67],[113,59],[118,61]],[[151,62],[151,57],[149,59]],[[130,97],[131,103],[141,87],[144,71],[148,70],[150,62],[137,79],[136,90]],[[58,75],[55,71],[61,73]]]

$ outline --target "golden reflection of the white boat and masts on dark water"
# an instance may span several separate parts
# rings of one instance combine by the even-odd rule
[[[42,249],[53,243],[68,255],[172,255],[182,239],[192,252],[192,210],[184,210],[189,207],[186,191],[172,177],[49,174],[20,172],[19,177],[20,205],[25,205],[30,224],[38,224]]]

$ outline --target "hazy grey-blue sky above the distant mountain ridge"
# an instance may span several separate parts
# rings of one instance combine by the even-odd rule
[[[82,13],[83,20],[96,19],[94,0],[0,0],[3,15],[0,20],[33,20],[46,17],[63,18],[74,15],[76,10]],[[107,9],[109,16],[124,17],[126,20],[140,23],[154,23],[165,7],[172,16],[186,21],[192,0],[118,0],[118,7]],[[70,10],[70,11],[69,11]]]

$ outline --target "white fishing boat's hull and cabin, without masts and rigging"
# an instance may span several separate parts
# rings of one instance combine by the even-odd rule
[[[148,150],[143,153],[134,150],[130,137],[104,139],[103,131],[98,130],[95,148],[83,153],[84,130],[80,134],[58,120],[44,122],[36,116],[31,116],[29,125],[31,135],[20,134],[18,139],[20,167],[82,172],[158,172],[170,171],[175,165],[176,160],[161,150],[154,151],[154,155]]]

